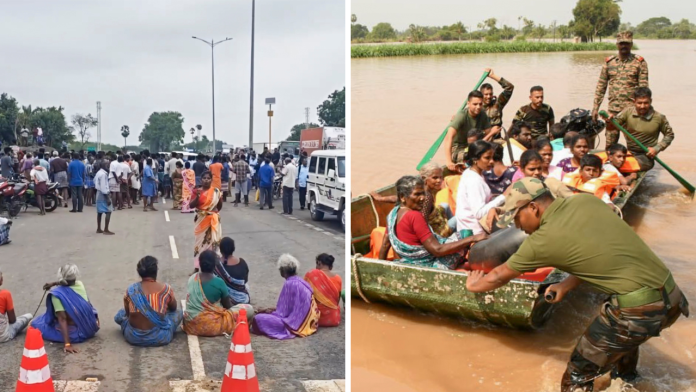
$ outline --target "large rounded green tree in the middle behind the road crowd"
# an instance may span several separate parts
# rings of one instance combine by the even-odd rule
[[[184,117],[179,112],[154,112],[147,120],[138,140],[150,151],[168,151],[173,143],[181,143],[185,133]]]

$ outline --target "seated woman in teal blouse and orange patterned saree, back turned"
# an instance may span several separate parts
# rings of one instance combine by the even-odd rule
[[[189,278],[184,332],[195,336],[230,334],[237,325],[239,310],[244,308],[249,320],[254,316],[251,305],[234,305],[222,279],[215,276],[217,253],[206,250],[200,256],[200,269]]]

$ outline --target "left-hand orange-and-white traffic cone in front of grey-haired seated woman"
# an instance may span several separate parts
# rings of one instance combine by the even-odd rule
[[[55,392],[41,331],[29,327],[15,392]]]

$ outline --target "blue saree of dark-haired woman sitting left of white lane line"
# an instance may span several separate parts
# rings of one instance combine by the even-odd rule
[[[141,347],[166,346],[171,343],[172,339],[174,339],[174,332],[176,332],[183,320],[181,310],[177,309],[167,314],[155,312],[147,301],[140,282],[133,283],[128,287],[128,297],[130,297],[137,311],[154,324],[154,328],[150,330],[133,328],[128,322],[126,310],[121,309],[116,313],[114,321],[121,326],[121,332],[123,332],[123,337],[126,341],[134,346]]]

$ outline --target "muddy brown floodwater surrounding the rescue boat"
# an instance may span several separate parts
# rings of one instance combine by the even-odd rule
[[[696,183],[693,124],[696,41],[638,41],[654,106],[675,130],[660,157]],[[415,173],[415,166],[465,100],[485,67],[516,89],[507,126],[544,86],[556,121],[592,108],[602,61],[611,52],[524,53],[357,59],[352,66],[353,196]],[[495,92],[501,91],[493,81]],[[606,99],[603,108],[606,107]],[[691,121],[691,122],[690,122]],[[602,146],[604,141],[601,142]],[[625,144],[622,137],[622,143]],[[444,162],[442,151],[437,161]],[[656,165],[657,166],[657,165]],[[641,347],[640,391],[696,391],[696,203],[665,170],[654,169],[625,210],[626,221],[672,270],[691,302],[680,318]],[[557,391],[570,352],[601,298],[579,288],[540,330],[522,332],[352,301],[352,390],[390,392]],[[600,380],[600,389],[608,380]],[[619,391],[614,382],[608,391]]]

